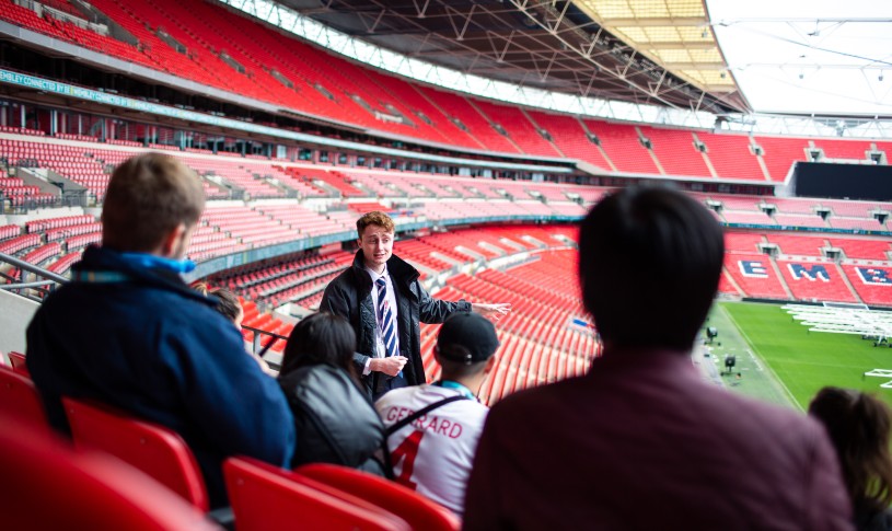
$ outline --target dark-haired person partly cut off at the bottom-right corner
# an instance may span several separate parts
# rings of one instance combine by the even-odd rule
[[[892,530],[892,412],[880,399],[839,388],[823,388],[809,415],[827,430],[836,449],[858,531]]]

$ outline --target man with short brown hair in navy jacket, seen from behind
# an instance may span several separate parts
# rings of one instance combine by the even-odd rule
[[[109,404],[183,436],[212,507],[225,505],[223,459],[291,461],[294,423],[276,382],[245,356],[216,301],[186,285],[184,259],[205,208],[198,175],[146,153],[112,174],[102,246],[72,267],[27,328],[27,366],[50,423],[61,396]]]

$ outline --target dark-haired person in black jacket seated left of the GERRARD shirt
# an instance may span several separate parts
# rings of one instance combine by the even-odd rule
[[[338,315],[314,313],[291,331],[279,385],[298,431],[292,466],[333,463],[383,475],[374,454],[384,426],[359,386],[354,350],[354,330]]]

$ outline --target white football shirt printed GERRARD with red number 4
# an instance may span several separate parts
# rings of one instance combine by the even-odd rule
[[[425,384],[395,389],[374,404],[390,427],[425,406],[461,394]],[[459,400],[433,409],[387,438],[396,481],[460,516],[467,476],[489,408]]]

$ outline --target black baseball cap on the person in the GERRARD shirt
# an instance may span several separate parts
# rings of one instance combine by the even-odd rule
[[[461,347],[461,348],[450,348]],[[437,336],[438,355],[450,361],[472,365],[486,361],[499,348],[496,327],[478,313],[453,313]]]

